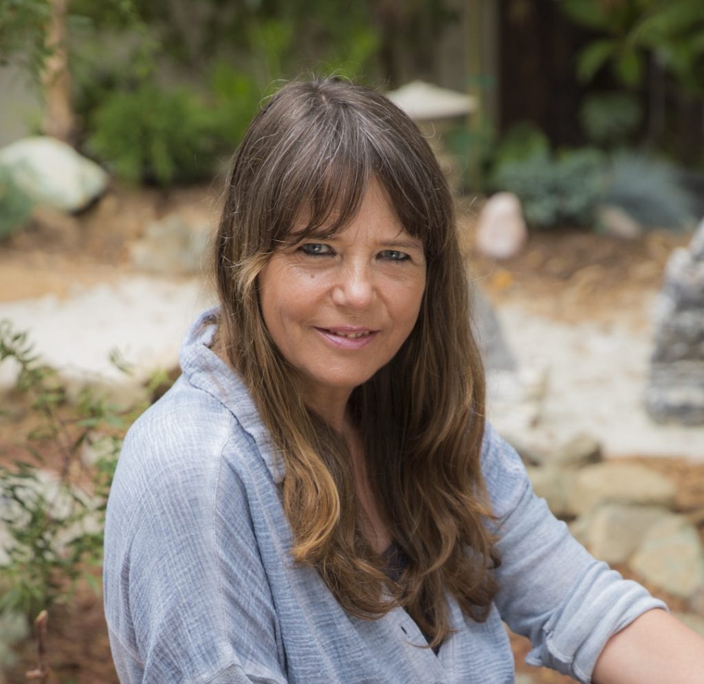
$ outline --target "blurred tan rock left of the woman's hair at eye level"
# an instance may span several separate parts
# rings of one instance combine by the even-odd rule
[[[169,214],[149,223],[144,238],[130,245],[130,261],[134,268],[153,273],[202,273],[211,232],[209,217]]]

